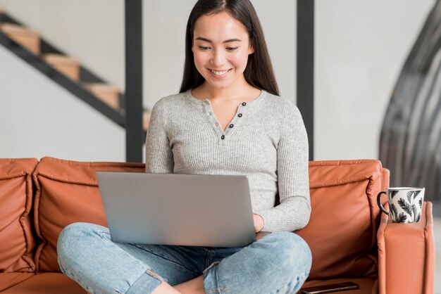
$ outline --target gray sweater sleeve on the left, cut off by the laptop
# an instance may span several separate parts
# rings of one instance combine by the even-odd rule
[[[166,113],[163,100],[151,110],[146,137],[146,172],[173,173],[173,153],[166,132]]]

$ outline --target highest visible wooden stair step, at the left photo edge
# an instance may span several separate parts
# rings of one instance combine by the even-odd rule
[[[39,55],[41,51],[39,32],[11,23],[1,23],[0,30],[27,50]]]

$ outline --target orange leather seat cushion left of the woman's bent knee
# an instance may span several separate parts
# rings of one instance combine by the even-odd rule
[[[87,294],[75,281],[58,273],[37,274],[1,294]]]

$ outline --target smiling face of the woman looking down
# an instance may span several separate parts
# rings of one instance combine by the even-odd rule
[[[247,84],[244,70],[254,50],[244,26],[222,12],[202,15],[194,24],[194,65],[205,84],[216,89]]]

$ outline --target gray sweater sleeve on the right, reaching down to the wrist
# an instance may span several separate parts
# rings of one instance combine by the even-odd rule
[[[277,148],[278,193],[280,205],[259,212],[263,231],[295,231],[309,222],[309,148],[302,115],[287,101],[280,122]]]

